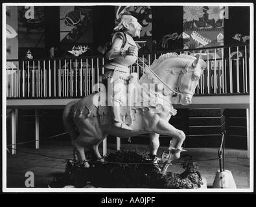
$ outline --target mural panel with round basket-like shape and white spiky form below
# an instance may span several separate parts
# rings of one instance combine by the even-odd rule
[[[93,43],[92,9],[60,6],[60,41],[64,52],[74,56],[88,54]]]

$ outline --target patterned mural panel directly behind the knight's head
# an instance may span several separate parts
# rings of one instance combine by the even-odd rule
[[[141,37],[134,38],[140,52],[152,50],[152,10],[150,6],[115,6],[115,25],[123,14],[130,14],[138,19],[143,27]]]

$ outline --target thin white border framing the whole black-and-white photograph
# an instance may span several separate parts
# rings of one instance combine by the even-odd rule
[[[254,29],[254,14],[253,14],[253,3],[3,3],[3,71],[2,71],[2,77],[6,77],[6,6],[250,6],[250,61],[249,61],[249,68],[250,68],[250,188],[237,188],[237,189],[213,189],[213,188],[207,188],[207,189],[180,189],[180,190],[174,190],[174,189],[152,189],[152,188],[6,188],[6,80],[3,79],[3,85],[2,85],[2,92],[3,92],[3,103],[2,103],[2,110],[3,110],[3,192],[163,192],[163,193],[171,193],[171,192],[253,192],[253,146],[254,146],[254,140],[253,140],[253,118],[254,118],[254,108],[253,108],[253,98],[254,98],[254,91],[253,91],[253,83],[254,83],[254,68],[253,68],[253,60],[254,60],[254,35],[253,35],[253,29]]]

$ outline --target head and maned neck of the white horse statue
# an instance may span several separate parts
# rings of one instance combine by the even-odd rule
[[[175,52],[167,53],[155,60],[150,65],[150,69],[145,70],[140,83],[150,81],[164,83],[163,94],[165,96],[177,93],[175,89],[178,87],[179,102],[182,105],[188,105],[191,103],[194,90],[205,67],[206,63],[200,59],[199,55],[194,57],[187,54],[178,55]]]

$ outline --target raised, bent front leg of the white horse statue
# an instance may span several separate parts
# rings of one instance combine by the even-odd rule
[[[174,147],[176,149],[181,149],[181,146],[185,140],[185,133],[183,133],[183,131],[181,131],[180,129],[176,129],[174,126],[170,125],[167,120],[160,119],[159,122],[157,122],[154,131],[160,135],[172,136],[172,138],[174,139],[174,143],[176,141]],[[180,158],[179,150],[176,151],[175,157]]]

